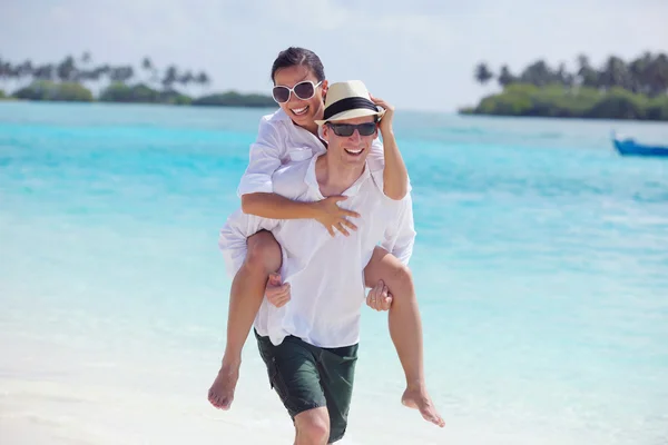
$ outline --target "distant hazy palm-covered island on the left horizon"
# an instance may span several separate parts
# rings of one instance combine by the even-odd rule
[[[234,90],[210,92],[212,79],[205,71],[196,72],[176,65],[159,69],[148,57],[139,67],[96,65],[90,52],[43,65],[31,60],[14,63],[0,57],[0,100],[276,107],[271,96]],[[2,87],[9,81],[20,87],[7,92]],[[94,95],[91,88],[99,92]],[[202,93],[190,96],[184,92],[188,89],[198,89]]]

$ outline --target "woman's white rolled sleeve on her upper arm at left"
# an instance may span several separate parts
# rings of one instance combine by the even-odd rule
[[[237,195],[274,191],[272,174],[281,167],[281,140],[276,128],[263,120],[257,140],[250,145],[248,167],[242,176]]]

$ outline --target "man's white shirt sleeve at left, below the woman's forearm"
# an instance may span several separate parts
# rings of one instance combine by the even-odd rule
[[[223,251],[225,266],[230,277],[239,270],[248,250],[246,238],[257,231],[272,230],[278,226],[277,219],[261,218],[255,215],[246,215],[240,209],[235,211],[220,229],[218,247]]]

